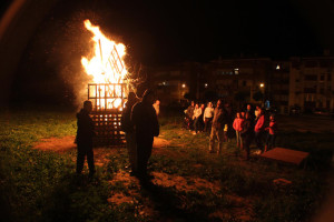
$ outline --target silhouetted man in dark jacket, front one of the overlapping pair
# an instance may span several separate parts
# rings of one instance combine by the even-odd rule
[[[158,119],[153,103],[154,94],[150,90],[146,90],[143,101],[136,103],[131,112],[137,142],[137,176],[140,180],[148,179],[147,163],[151,154],[154,137],[159,135]]]

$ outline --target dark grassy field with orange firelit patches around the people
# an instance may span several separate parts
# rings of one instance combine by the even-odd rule
[[[293,119],[284,120],[292,124]],[[225,144],[220,155],[209,154],[208,135],[193,135],[184,130],[180,117],[161,119],[160,124],[159,138],[166,143],[153,152],[149,170],[156,179],[153,188],[145,189],[128,175],[125,149],[97,150],[104,153],[104,161],[92,181],[86,175],[76,176],[75,149],[66,152],[32,149],[41,139],[75,135],[73,112],[1,111],[1,218],[3,221],[308,221],[328,191],[333,173],[332,132],[302,132],[282,127],[277,145],[311,153],[308,164],[302,169],[255,155],[248,162],[242,161],[234,140]],[[292,183],[275,184],[276,179]]]

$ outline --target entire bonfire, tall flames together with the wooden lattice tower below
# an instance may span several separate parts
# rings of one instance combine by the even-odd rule
[[[88,100],[94,105],[91,118],[97,133],[94,143],[95,147],[119,147],[125,140],[120,118],[129,91],[124,62],[126,47],[108,39],[89,20],[84,23],[94,34],[92,56],[81,58],[86,73],[92,77],[88,83]]]

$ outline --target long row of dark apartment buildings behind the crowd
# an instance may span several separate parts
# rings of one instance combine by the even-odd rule
[[[334,58],[217,59],[151,69],[150,83],[166,105],[187,100],[207,102],[220,98],[235,107],[244,103],[274,107],[289,113],[334,109]]]

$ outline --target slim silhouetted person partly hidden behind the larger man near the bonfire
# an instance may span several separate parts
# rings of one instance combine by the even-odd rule
[[[121,131],[126,133],[126,143],[129,153],[129,162],[131,172],[130,175],[136,175],[137,173],[137,145],[136,145],[136,134],[134,124],[131,122],[131,110],[134,104],[138,101],[135,92],[129,92],[128,101],[125,109],[121,112],[120,125]]]

